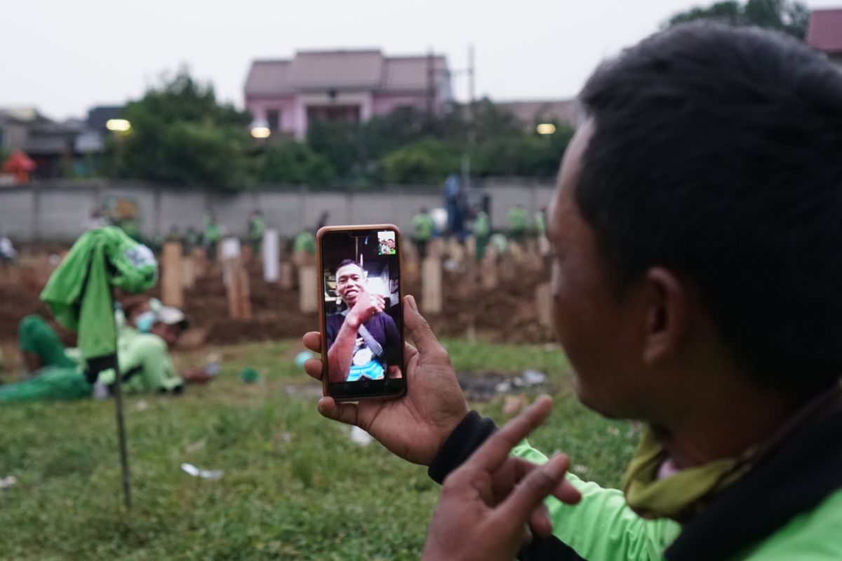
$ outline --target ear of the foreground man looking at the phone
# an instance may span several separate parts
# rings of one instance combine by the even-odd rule
[[[643,360],[657,363],[674,352],[687,329],[687,291],[669,269],[653,267],[646,273],[646,331]]]

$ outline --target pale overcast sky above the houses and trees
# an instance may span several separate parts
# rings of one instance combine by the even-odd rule
[[[658,29],[692,0],[18,0],[3,6],[0,107],[83,117],[139,98],[186,64],[222,100],[243,105],[253,59],[299,49],[380,48],[447,56],[474,45],[477,94],[568,98],[605,58]],[[808,0],[810,8],[842,0]],[[454,93],[466,98],[466,77]]]

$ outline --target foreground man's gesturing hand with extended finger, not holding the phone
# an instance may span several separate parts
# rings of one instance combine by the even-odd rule
[[[445,479],[423,561],[509,561],[531,537],[527,523],[539,536],[552,533],[543,505],[548,495],[570,505],[581,499],[564,479],[570,463],[566,456],[555,456],[542,466],[509,456],[551,409],[548,397],[539,398]]]

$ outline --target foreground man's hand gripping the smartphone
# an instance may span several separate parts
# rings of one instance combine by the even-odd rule
[[[401,458],[429,465],[450,432],[467,415],[468,405],[450,366],[450,357],[418,314],[412,296],[403,299],[403,320],[418,346],[403,346],[407,394],[399,400],[362,400],[358,404],[337,403],[331,397],[323,397],[318,410],[330,419],[360,426]],[[304,336],[304,345],[312,352],[322,352],[322,338],[317,331]],[[320,359],[308,360],[304,370],[313,378],[322,379]]]

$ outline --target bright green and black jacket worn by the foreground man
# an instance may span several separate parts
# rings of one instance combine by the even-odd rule
[[[450,434],[429,467],[442,482],[496,430],[476,411]],[[645,520],[619,490],[573,474],[578,505],[546,500],[553,535],[518,554],[529,561],[830,561],[842,559],[842,403],[790,426],[751,470],[683,525]],[[528,442],[513,454],[546,457]]]

